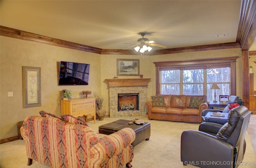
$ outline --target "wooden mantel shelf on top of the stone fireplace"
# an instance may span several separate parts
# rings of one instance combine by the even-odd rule
[[[106,79],[108,87],[148,86],[151,78]]]

